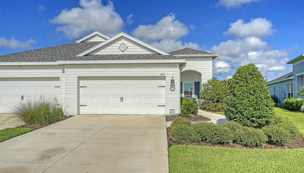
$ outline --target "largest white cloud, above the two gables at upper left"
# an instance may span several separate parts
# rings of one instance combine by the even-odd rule
[[[50,20],[58,24],[57,32],[64,32],[69,37],[80,37],[92,31],[106,35],[120,32],[124,26],[123,19],[115,11],[113,2],[103,5],[101,0],[80,0],[80,7],[64,9]]]

